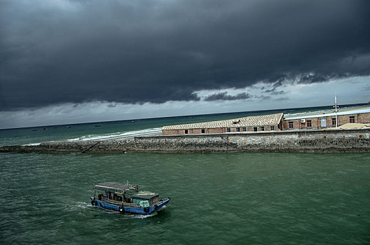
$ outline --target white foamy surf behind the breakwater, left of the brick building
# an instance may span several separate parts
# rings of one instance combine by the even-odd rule
[[[100,135],[86,135],[83,137],[78,137],[75,139],[67,139],[67,141],[96,141],[96,140],[110,140],[110,139],[131,139],[137,136],[145,136],[151,134],[160,134],[162,128],[156,127],[146,130],[137,130],[137,131],[130,131],[130,132],[116,132],[114,134],[100,134]]]

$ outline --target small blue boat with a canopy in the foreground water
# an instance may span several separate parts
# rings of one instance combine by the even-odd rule
[[[139,191],[137,185],[104,182],[94,186],[93,206],[125,214],[152,214],[163,209],[170,197],[159,198],[156,193]]]

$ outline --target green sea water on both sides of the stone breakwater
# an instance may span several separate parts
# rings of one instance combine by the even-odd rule
[[[126,139],[240,116],[0,130],[0,145]],[[369,244],[369,163],[370,153],[0,153],[0,244]],[[104,181],[171,201],[151,216],[93,207]]]

